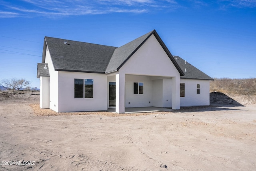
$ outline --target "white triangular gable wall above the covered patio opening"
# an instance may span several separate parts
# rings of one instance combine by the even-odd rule
[[[120,68],[119,73],[180,77],[180,73],[152,35]]]

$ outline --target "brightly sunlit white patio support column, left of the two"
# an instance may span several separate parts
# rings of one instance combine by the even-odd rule
[[[116,74],[116,113],[124,113],[125,74]]]

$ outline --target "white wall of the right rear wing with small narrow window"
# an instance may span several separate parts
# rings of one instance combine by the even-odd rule
[[[180,106],[210,105],[210,81],[180,79],[185,83],[185,97],[180,97]],[[200,84],[200,94],[196,93],[196,85]]]

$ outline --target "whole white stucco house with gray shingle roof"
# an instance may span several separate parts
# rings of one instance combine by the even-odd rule
[[[210,80],[172,56],[156,30],[121,47],[45,37],[40,107],[56,112],[209,105]]]

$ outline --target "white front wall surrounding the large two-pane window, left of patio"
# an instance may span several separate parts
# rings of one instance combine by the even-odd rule
[[[74,79],[93,79],[93,98],[74,98]],[[107,76],[105,74],[58,72],[58,112],[107,110]]]

